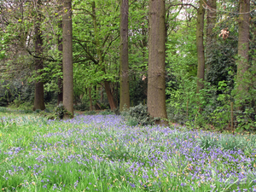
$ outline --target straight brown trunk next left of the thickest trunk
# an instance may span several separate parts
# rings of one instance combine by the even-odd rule
[[[128,61],[128,13],[129,0],[120,0],[120,106],[130,108],[129,61]]]

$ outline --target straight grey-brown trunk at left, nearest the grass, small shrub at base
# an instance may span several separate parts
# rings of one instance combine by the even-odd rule
[[[64,0],[63,27],[63,105],[70,114],[64,118],[73,118],[73,31],[72,0]]]

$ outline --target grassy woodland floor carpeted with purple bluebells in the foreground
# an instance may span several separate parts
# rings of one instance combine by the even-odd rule
[[[227,137],[174,125],[131,127],[116,115],[77,115],[68,120],[2,115],[0,187],[256,191],[255,143],[254,136]]]

